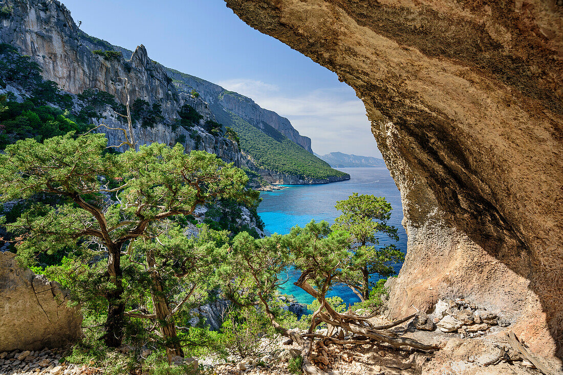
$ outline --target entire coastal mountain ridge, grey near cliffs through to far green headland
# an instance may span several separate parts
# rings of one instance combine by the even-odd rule
[[[141,126],[141,123],[135,126],[140,144],[159,142],[173,146],[181,142],[186,152],[204,150],[216,153],[226,161],[233,161],[236,166],[262,173],[266,182],[291,183],[291,180],[297,180],[298,183],[328,183],[333,178],[349,178],[347,174],[333,170],[312,155],[310,139],[293,129],[289,120],[262,109],[251,98],[226,91],[195,76],[168,69],[149,58],[142,45],[133,52],[88,35],[78,28],[68,8],[58,1],[6,0],[6,4],[11,9],[11,15],[0,20],[0,42],[13,45],[22,55],[30,56],[42,67],[44,79],[55,82],[61,90],[74,96],[81,95],[88,89],[95,89],[111,94],[118,103],[126,102],[129,94],[133,104],[139,100],[146,103],[148,108],[159,108],[161,120],[148,127]],[[120,53],[111,53],[112,51]],[[211,95],[205,95],[209,92],[202,87],[200,91],[204,95],[201,97],[191,94],[186,82],[175,82],[174,74],[189,77],[188,83],[199,82],[207,87],[214,85],[216,91],[221,91],[218,93],[221,98],[217,96],[215,100]],[[128,89],[118,77],[129,78]],[[185,89],[180,87],[180,83],[185,85]],[[203,100],[204,97],[209,99],[209,103]],[[253,160],[260,164],[259,158],[251,158],[248,157],[248,152],[241,152],[238,142],[233,140],[235,137],[229,139],[222,135],[226,129],[218,126],[220,124],[215,122],[213,113],[215,111],[216,114],[222,114],[223,107],[219,109],[216,105],[218,100],[222,100],[221,105],[225,106],[225,110],[244,116],[244,121],[260,129],[263,134],[268,133],[269,126],[276,129],[281,137],[275,143],[278,151],[282,143],[286,146],[289,144],[287,142],[296,144],[296,148],[289,147],[291,150],[287,150],[292,162],[285,163],[285,167],[272,165],[271,162],[254,165]],[[187,127],[178,126],[181,121],[180,112],[185,106],[192,107],[203,117],[194,120]],[[76,109],[81,110],[78,107]],[[110,128],[119,126],[120,119],[113,109],[108,107],[101,110],[100,114]],[[92,119],[92,122],[99,125],[100,120]],[[121,135],[117,130],[104,129],[103,132],[110,144],[120,143]],[[298,168],[294,168],[296,166]],[[301,174],[292,174],[296,171]],[[272,177],[274,175],[278,177]]]

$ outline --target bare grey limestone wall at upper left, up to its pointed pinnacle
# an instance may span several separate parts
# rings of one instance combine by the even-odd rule
[[[70,93],[97,88],[127,101],[119,77],[129,79],[131,101],[137,98],[160,103],[163,115],[175,116],[177,92],[166,72],[150,60],[144,46],[137,47],[131,60],[106,58],[92,53],[81,42],[70,11],[56,0],[7,0],[12,16],[0,21],[0,40],[29,55],[42,68],[43,77],[55,81]]]

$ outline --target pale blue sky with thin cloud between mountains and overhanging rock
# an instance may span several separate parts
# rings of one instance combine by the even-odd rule
[[[252,98],[321,155],[381,157],[363,103],[337,75],[252,29],[222,0],[63,0],[81,29]]]

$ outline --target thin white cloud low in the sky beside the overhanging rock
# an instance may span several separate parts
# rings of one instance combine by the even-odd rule
[[[316,153],[340,151],[381,157],[364,104],[351,98],[350,88],[288,95],[276,85],[251,79],[230,79],[218,84],[288,118],[301,135],[311,138]]]

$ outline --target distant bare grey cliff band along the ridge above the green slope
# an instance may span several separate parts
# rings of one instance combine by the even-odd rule
[[[204,79],[193,75],[180,73],[179,71],[168,69],[168,74],[176,80],[176,85],[186,92],[195,89],[205,101],[218,104],[227,111],[232,111],[248,121],[251,125],[263,129],[264,124],[272,126],[278,132],[299,144],[309,152],[311,150],[311,138],[304,137],[293,128],[288,119],[276,114],[274,111],[265,110],[258,106],[251,98],[239,93],[228,91],[215,83],[207,82]]]

